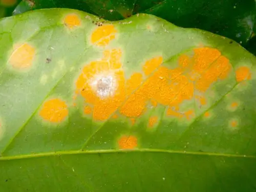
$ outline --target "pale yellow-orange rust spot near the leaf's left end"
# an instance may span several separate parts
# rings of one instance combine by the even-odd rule
[[[32,66],[34,56],[35,48],[25,43],[12,52],[9,63],[15,69],[27,69]]]

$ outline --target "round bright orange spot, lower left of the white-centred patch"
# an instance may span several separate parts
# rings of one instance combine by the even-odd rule
[[[61,122],[68,116],[67,104],[61,99],[50,99],[46,101],[39,112],[39,115],[50,122]]]

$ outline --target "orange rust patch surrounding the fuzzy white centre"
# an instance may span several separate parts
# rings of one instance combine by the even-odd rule
[[[76,88],[93,105],[93,119],[108,119],[125,99],[125,79],[120,62],[121,50],[106,50],[103,58],[86,65]]]

